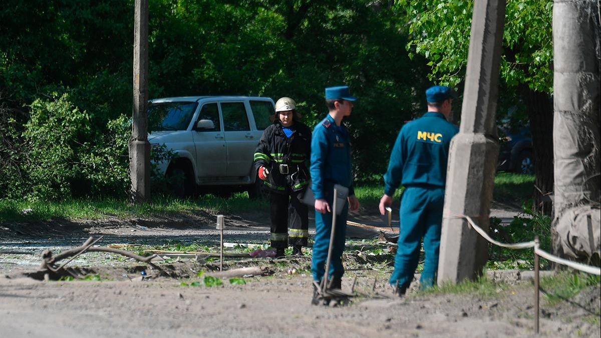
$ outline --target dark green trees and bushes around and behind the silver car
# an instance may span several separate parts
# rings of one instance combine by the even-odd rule
[[[323,88],[349,84],[359,177],[385,171],[401,124],[421,113],[424,68],[387,2],[150,0],[149,10],[151,98],[290,96],[313,126]],[[0,198],[125,194],[133,1],[7,0],[0,22]]]

